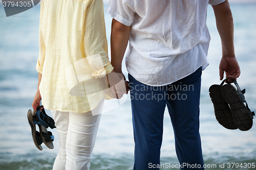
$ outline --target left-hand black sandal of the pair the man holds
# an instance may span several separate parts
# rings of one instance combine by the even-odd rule
[[[230,107],[224,100],[221,93],[221,88],[224,82],[225,80],[220,85],[214,84],[209,88],[211,102],[214,104],[215,116],[219,124],[224,128],[231,130],[238,129],[238,127],[234,124]]]

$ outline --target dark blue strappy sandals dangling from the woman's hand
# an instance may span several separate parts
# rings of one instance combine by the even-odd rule
[[[32,138],[36,148],[41,151],[41,144],[44,142],[49,149],[53,149],[54,147],[52,142],[54,140],[54,136],[52,135],[52,132],[47,131],[47,128],[56,128],[55,122],[53,118],[46,114],[44,107],[37,107],[36,112],[29,109],[28,122],[31,127]],[[39,127],[39,132],[36,131],[36,125]]]

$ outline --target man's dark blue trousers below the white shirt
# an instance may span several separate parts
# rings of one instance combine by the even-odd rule
[[[129,75],[135,140],[134,170],[154,169],[153,164],[160,164],[166,105],[174,128],[176,153],[180,164],[184,165],[180,166],[181,169],[204,169],[199,134],[201,74],[199,68],[177,82],[160,87],[145,85]]]

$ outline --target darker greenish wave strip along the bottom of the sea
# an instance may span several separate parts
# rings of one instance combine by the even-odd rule
[[[1,170],[50,170],[52,169],[54,154],[25,154],[12,155],[0,153]],[[245,167],[245,164],[252,165],[256,162],[256,151],[251,153],[211,153],[204,155],[205,169],[255,169],[252,166]],[[91,170],[132,170],[134,157],[132,154],[97,154],[91,159]],[[162,168],[179,169],[176,157],[161,157]],[[224,166],[223,166],[224,165]],[[239,165],[239,167],[237,166]],[[208,166],[208,168],[207,168]],[[233,166],[233,168],[232,168]],[[242,167],[243,166],[243,167]]]

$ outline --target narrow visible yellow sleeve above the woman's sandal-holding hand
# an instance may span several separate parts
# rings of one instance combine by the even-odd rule
[[[42,36],[41,25],[39,25],[39,56],[36,63],[36,70],[40,74],[42,74],[42,68],[44,67],[45,51],[46,46],[44,42],[44,37]]]

